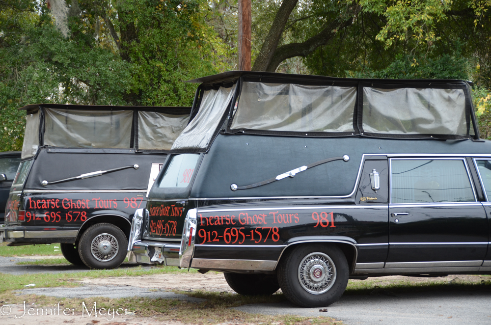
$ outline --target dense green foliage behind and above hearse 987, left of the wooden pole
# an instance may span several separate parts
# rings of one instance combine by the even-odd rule
[[[205,1],[66,3],[68,37],[46,4],[0,2],[1,151],[22,148],[19,107],[190,106],[196,85],[184,81],[217,72],[216,33],[200,10]]]

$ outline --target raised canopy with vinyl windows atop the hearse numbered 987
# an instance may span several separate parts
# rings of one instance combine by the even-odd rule
[[[168,152],[189,122],[190,108],[28,105],[22,159],[40,146],[56,150]]]

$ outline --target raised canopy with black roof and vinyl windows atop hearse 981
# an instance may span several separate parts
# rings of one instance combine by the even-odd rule
[[[171,152],[207,152],[223,134],[479,138],[460,80],[347,79],[230,71],[201,83]]]

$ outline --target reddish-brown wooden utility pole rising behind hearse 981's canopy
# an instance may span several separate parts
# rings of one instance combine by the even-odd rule
[[[251,0],[239,0],[239,70],[250,71]]]

